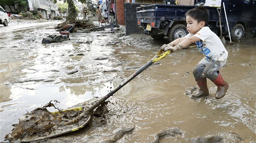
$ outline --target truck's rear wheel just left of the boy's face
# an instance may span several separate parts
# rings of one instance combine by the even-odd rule
[[[187,27],[183,24],[176,24],[171,29],[169,29],[168,32],[168,40],[169,42],[185,37],[188,34]]]

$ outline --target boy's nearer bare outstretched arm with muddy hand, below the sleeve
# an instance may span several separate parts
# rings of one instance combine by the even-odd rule
[[[178,39],[176,39],[176,40],[178,40]],[[172,52],[174,52],[176,50],[185,48],[185,47],[189,46],[190,44],[195,43],[195,42],[200,41],[200,40],[201,39],[197,38],[196,36],[191,36],[189,38],[183,38],[183,40],[180,43],[178,43],[176,46],[169,46],[168,45],[167,47],[164,48],[164,50],[165,51],[171,50]]]

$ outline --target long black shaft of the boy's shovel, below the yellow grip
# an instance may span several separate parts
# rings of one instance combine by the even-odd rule
[[[128,82],[130,82],[133,78],[135,78],[136,76],[138,76],[142,71],[144,71],[146,68],[148,68],[150,65],[152,65],[152,61],[150,60],[148,63],[146,63],[143,67],[141,67],[139,70],[137,70],[134,74],[132,74],[129,78],[126,78],[126,80],[124,82],[122,82],[121,84],[119,84],[119,86],[117,86],[117,88],[115,88],[114,90],[112,90],[111,92],[109,92],[107,95],[105,95],[104,97],[102,97],[101,99],[99,99],[96,103],[94,103],[87,111],[91,112],[93,111],[93,109],[95,109],[96,107],[98,107],[100,104],[102,104],[106,99],[108,99],[109,97],[111,97],[114,93],[116,93],[119,89],[121,89],[123,86],[125,86]]]

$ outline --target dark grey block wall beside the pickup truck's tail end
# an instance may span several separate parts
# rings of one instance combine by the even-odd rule
[[[140,7],[140,5],[149,5],[145,3],[124,3],[124,18],[125,18],[125,25],[126,25],[126,35],[132,33],[139,33],[143,34],[143,27],[139,27],[137,25],[137,18],[136,18],[136,8]],[[142,32],[141,32],[142,29]]]

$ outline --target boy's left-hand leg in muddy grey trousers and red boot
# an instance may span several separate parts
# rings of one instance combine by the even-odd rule
[[[199,97],[202,96],[207,96],[209,95],[209,90],[207,88],[207,81],[206,81],[206,77],[204,77],[202,74],[204,72],[204,68],[206,67],[206,65],[209,63],[209,61],[202,59],[199,63],[197,63],[197,65],[194,67],[193,69],[193,75],[195,78],[195,81],[197,83],[197,85],[199,86],[199,90],[197,93],[193,93],[191,95],[192,99],[197,99]]]

